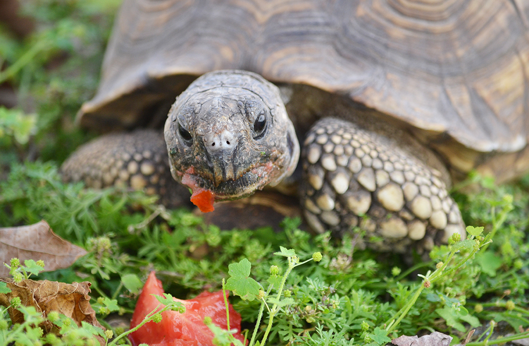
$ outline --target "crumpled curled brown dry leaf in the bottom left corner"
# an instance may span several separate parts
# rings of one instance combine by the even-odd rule
[[[10,293],[0,293],[0,305],[8,307],[14,297],[20,297],[22,305],[33,306],[44,316],[51,311],[57,311],[70,317],[78,326],[84,321],[105,330],[97,321],[96,312],[90,306],[89,282],[66,284],[48,280],[24,279],[20,283],[15,283],[12,278],[0,278],[0,281],[5,282],[11,289]],[[24,321],[24,315],[20,311],[12,307],[7,311],[13,323]],[[45,321],[40,326],[47,333],[57,331],[57,327],[50,321]],[[97,336],[97,339],[105,344],[101,336]]]

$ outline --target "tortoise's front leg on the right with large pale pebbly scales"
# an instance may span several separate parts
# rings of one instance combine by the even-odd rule
[[[301,203],[318,232],[358,226],[370,248],[398,253],[465,235],[440,173],[380,135],[324,118],[307,133],[302,160]]]

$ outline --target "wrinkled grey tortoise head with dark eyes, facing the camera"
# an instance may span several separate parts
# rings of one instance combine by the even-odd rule
[[[164,133],[172,176],[215,200],[276,185],[299,158],[279,89],[246,71],[210,72],[191,83],[172,105]]]

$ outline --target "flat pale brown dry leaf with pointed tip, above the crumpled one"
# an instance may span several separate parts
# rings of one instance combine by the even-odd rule
[[[34,225],[0,228],[0,276],[9,275],[4,263],[11,258],[44,261],[44,271],[67,268],[75,260],[86,255],[83,248],[62,239],[50,228],[48,222],[42,220]]]

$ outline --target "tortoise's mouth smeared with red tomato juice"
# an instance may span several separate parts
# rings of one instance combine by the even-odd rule
[[[272,162],[259,164],[242,174],[238,179],[229,179],[215,185],[215,183],[196,172],[194,166],[186,170],[181,177],[181,183],[191,191],[204,189],[214,194],[215,201],[235,200],[248,197],[256,190],[261,190],[273,181],[277,174],[277,167]]]

